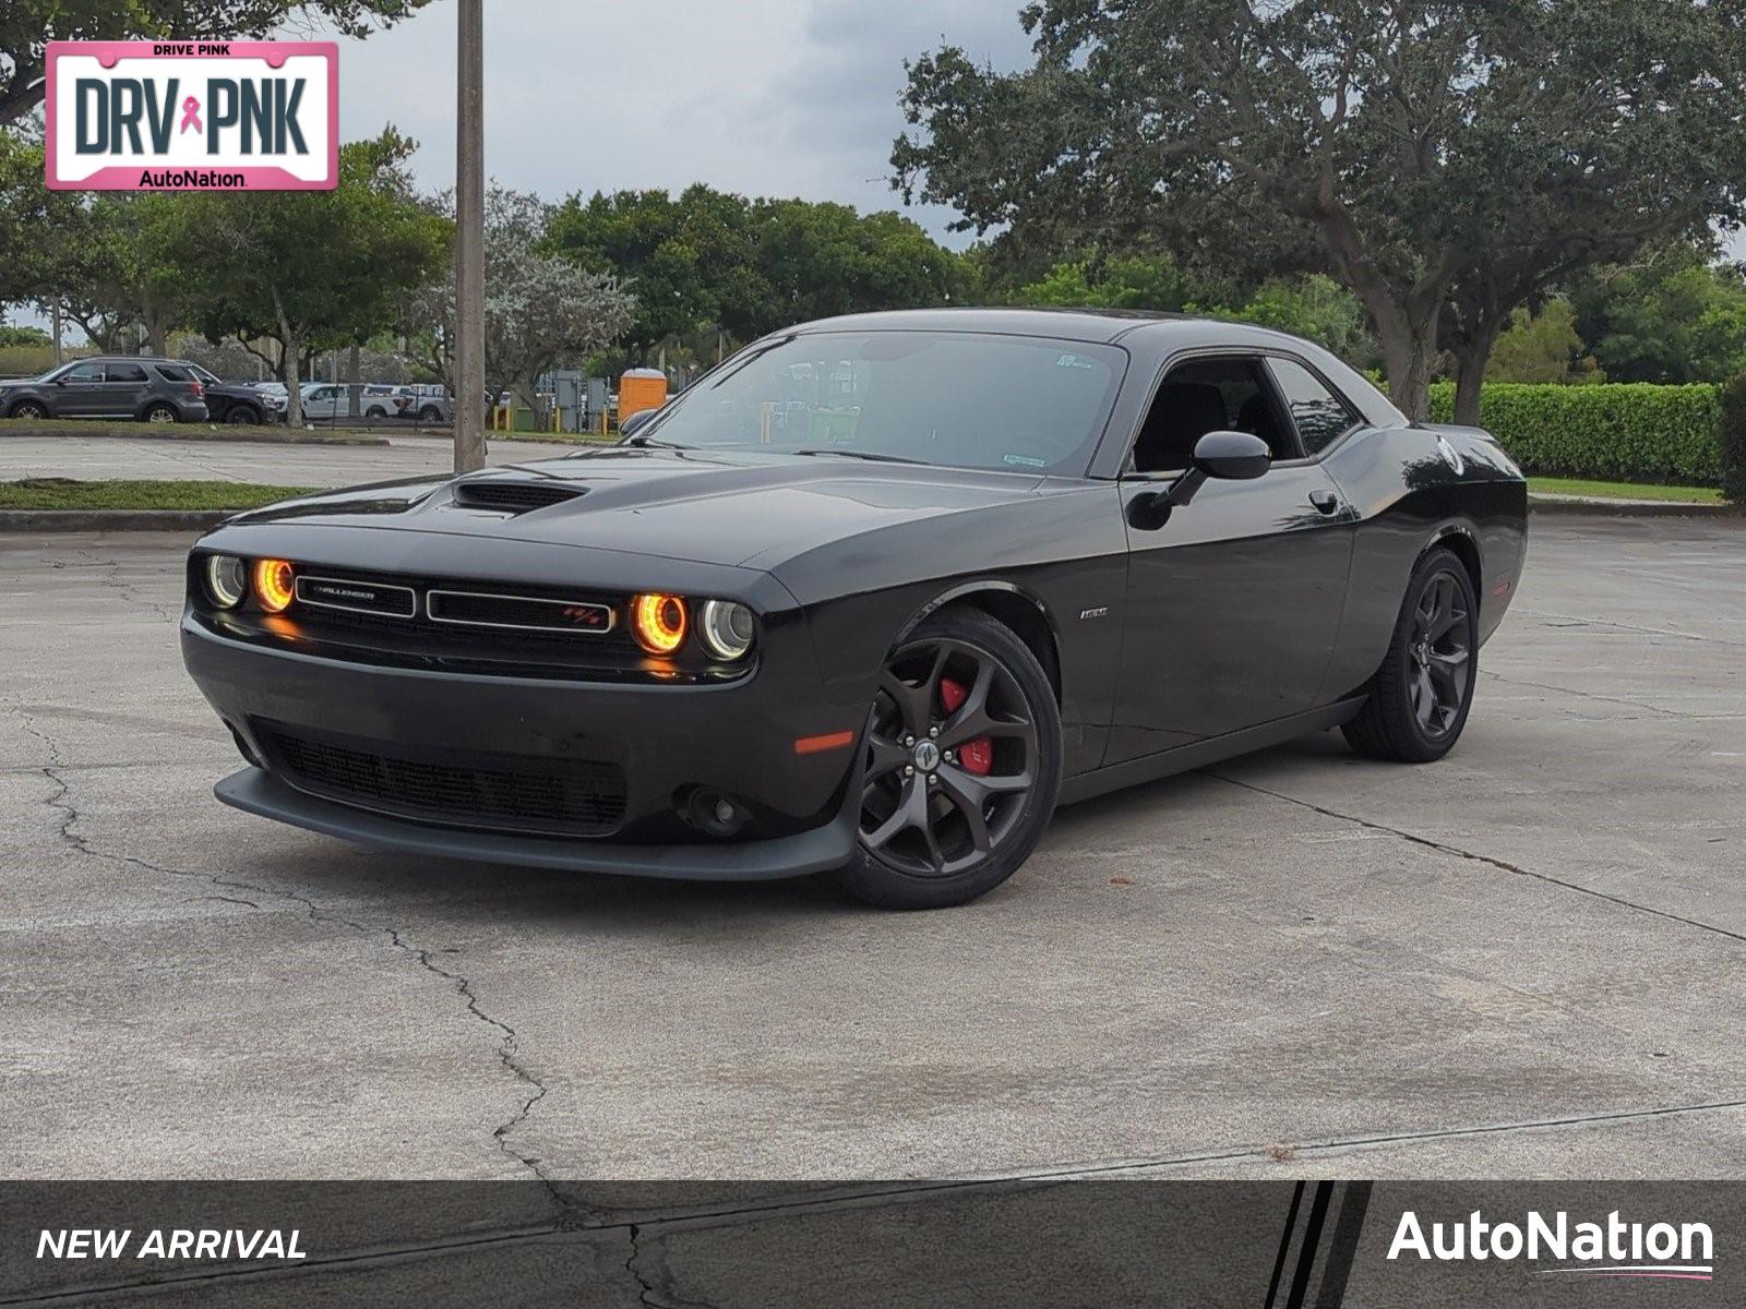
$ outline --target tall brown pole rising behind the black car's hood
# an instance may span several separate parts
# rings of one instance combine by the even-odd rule
[[[485,19],[461,0],[454,150],[454,471],[485,466]]]

